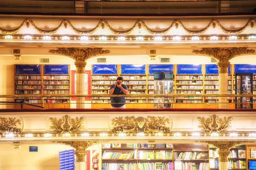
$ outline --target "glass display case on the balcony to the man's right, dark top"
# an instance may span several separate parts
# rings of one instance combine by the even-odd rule
[[[154,73],[154,94],[173,94],[173,73]],[[173,97],[154,97],[154,108],[172,108]]]

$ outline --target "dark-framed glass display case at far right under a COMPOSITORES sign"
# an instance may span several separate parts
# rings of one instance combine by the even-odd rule
[[[236,74],[236,94],[253,94],[253,74],[237,73]],[[252,109],[253,97],[241,96],[236,97],[237,109]]]

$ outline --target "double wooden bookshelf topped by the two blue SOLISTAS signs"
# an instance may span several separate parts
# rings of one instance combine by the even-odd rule
[[[65,72],[63,72],[65,70]],[[65,74],[63,74],[65,73]],[[70,108],[69,97],[54,95],[70,94],[69,65],[15,65],[15,94],[52,94],[51,97],[16,97],[15,102],[25,102],[44,108]],[[20,108],[20,105],[15,105]],[[23,108],[34,108],[23,105]]]

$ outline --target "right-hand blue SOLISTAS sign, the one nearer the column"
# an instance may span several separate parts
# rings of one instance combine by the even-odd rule
[[[68,65],[44,65],[44,74],[68,74]]]

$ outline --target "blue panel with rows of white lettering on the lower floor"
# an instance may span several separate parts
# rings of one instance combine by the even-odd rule
[[[60,170],[75,169],[75,153],[74,150],[65,150],[60,153]]]

